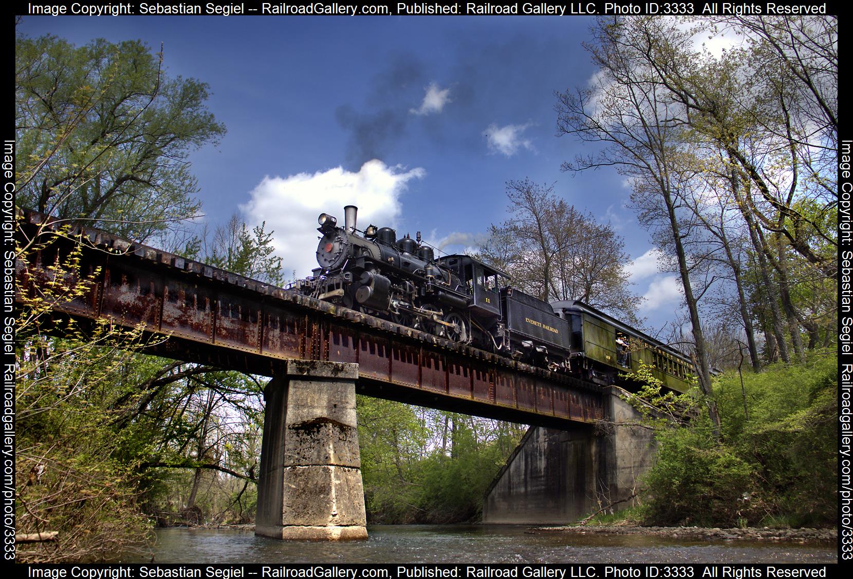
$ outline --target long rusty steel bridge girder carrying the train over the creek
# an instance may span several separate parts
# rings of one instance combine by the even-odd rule
[[[27,212],[18,234],[60,227]],[[16,263],[18,294],[46,284],[49,267],[80,244],[80,278],[93,283],[55,311],[106,318],[166,335],[147,351],[276,375],[287,359],[355,362],[362,393],[502,420],[566,426],[603,417],[601,387],[521,364],[232,272],[74,227]]]

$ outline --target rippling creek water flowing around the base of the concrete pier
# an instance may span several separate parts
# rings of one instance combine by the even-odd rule
[[[155,563],[836,563],[834,544],[561,535],[515,525],[374,525],[359,542],[276,541],[252,530],[159,529]],[[148,562],[136,559],[136,562]]]

